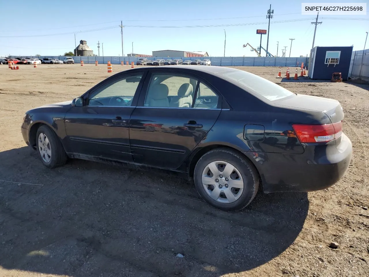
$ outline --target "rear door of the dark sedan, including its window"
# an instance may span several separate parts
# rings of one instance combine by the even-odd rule
[[[136,163],[178,168],[221,112],[221,96],[210,86],[196,76],[175,72],[151,71],[146,77],[130,120],[131,151]],[[200,85],[213,99],[213,105],[202,101],[199,106],[196,92]]]

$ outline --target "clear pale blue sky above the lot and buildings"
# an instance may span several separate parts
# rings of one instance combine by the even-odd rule
[[[279,41],[278,56],[282,55],[284,46],[287,46],[287,57],[289,56],[291,44],[289,38],[295,39],[292,43],[291,57],[308,54],[314,33],[314,25],[310,24],[315,21],[312,19],[314,16],[301,15],[301,2],[299,1],[21,0],[15,2],[17,12],[12,12],[12,20],[7,13],[0,18],[1,56],[9,54],[62,55],[75,48],[74,32],[105,27],[106,30],[76,33],[77,45],[80,40],[86,40],[94,50],[94,54],[97,54],[97,42],[100,41],[104,43],[105,56],[121,55],[121,35],[118,25],[120,25],[120,20],[123,20],[123,25],[125,25],[123,29],[124,55],[131,53],[133,42],[134,53],[138,54],[151,54],[156,50],[172,49],[207,51],[211,56],[223,56],[223,29],[225,29],[227,34],[226,56],[254,57],[256,54],[251,52],[249,47],[243,48],[242,45],[248,42],[255,48],[259,46],[260,35],[256,34],[256,29],[268,28],[266,14],[269,4],[272,4],[272,10],[274,10],[273,18],[270,20],[269,34],[269,52],[273,55],[277,54],[277,41]],[[15,2],[3,1],[2,10],[14,10]],[[365,32],[369,31],[369,21],[345,20],[345,18],[369,19],[368,14],[365,16],[319,15],[319,17],[319,21],[323,21],[323,24],[317,27],[315,46],[354,45],[354,50],[363,48]],[[289,22],[275,23],[275,21],[286,20]],[[183,27],[253,23],[261,24]],[[180,28],[154,28],[153,26]],[[264,48],[266,48],[266,41],[267,35],[263,35],[262,46]],[[368,46],[369,44],[366,48]],[[102,56],[101,47],[100,55]]]

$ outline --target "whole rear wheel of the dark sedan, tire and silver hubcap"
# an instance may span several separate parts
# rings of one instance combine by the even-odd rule
[[[223,211],[246,207],[259,188],[254,165],[227,148],[211,150],[199,159],[194,170],[194,183],[208,204]]]

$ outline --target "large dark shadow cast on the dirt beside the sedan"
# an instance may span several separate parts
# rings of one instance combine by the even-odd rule
[[[0,181],[0,269],[44,274],[250,270],[293,243],[309,207],[306,193],[259,193],[243,211],[223,212],[175,174],[82,160],[49,170],[28,147],[0,152],[0,176],[14,182]]]

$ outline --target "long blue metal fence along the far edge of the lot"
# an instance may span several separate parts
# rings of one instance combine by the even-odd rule
[[[52,59],[61,59],[63,60],[65,56],[41,56],[38,57],[42,58],[52,58]],[[22,58],[37,58],[37,57],[30,57],[30,56],[23,56]],[[120,64],[121,61],[124,64],[128,61],[129,64],[131,62],[136,63],[138,59],[141,57],[101,57],[101,56],[77,56],[72,57],[75,63],[80,63],[83,61],[84,64],[94,64],[95,61],[98,61],[99,64],[107,64],[108,61],[111,64]],[[199,57],[148,57],[149,60],[155,59],[182,59],[183,61],[190,60],[193,61],[195,59],[199,59]],[[203,57],[200,59],[210,59],[211,65],[218,65],[218,66],[300,66],[303,62],[304,65],[308,65],[309,58],[281,58],[281,57]]]

